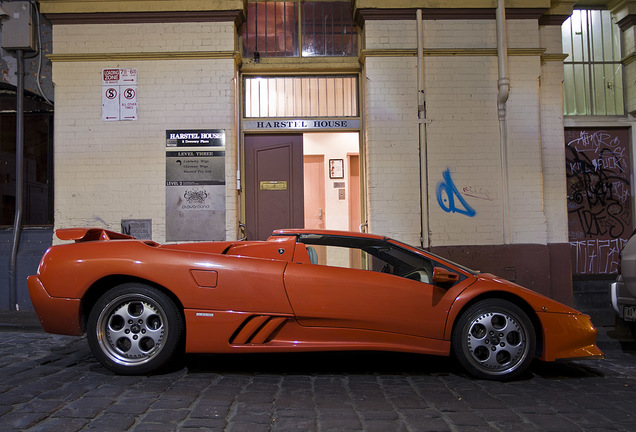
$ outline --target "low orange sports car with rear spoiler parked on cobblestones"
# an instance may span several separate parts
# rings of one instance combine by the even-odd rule
[[[388,237],[278,230],[161,245],[62,229],[28,280],[42,327],[146,374],[187,353],[385,350],[453,355],[478,378],[533,358],[603,356],[587,315]]]

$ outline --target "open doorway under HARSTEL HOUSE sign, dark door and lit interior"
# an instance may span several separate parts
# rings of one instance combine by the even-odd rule
[[[358,148],[357,132],[246,135],[247,238],[279,228],[357,231]]]

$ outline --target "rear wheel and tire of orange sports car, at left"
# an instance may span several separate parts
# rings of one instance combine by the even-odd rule
[[[171,364],[183,344],[185,324],[174,302],[139,283],[119,285],[102,295],[87,322],[93,355],[111,371],[144,375]]]

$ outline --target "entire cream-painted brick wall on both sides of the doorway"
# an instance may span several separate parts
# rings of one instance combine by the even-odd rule
[[[556,30],[555,30],[556,29]],[[419,243],[420,173],[425,229],[436,246],[503,242],[503,195],[494,20],[424,21],[425,49],[490,49],[424,59],[426,166],[420,169],[413,20],[367,21],[364,143],[373,232]],[[511,50],[559,52],[558,27],[509,20]],[[227,237],[236,234],[233,59],[135,60],[134,53],[235,49],[231,23],[57,25],[54,54],[127,53],[132,60],[55,61],[56,227],[153,220],[165,239],[165,130],[221,128],[227,134]],[[164,56],[166,57],[166,56]],[[139,120],[102,122],[101,70],[136,67]],[[510,56],[508,170],[514,243],[562,242],[565,225],[561,63]],[[438,193],[441,191],[440,193]],[[450,196],[449,196],[450,193]],[[452,199],[452,203],[449,201]],[[452,205],[451,205],[452,204]],[[452,208],[451,208],[452,207]]]

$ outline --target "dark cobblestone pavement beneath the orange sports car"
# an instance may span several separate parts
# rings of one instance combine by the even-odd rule
[[[511,383],[393,353],[188,356],[126,377],[85,338],[0,333],[0,431],[636,431],[636,353]]]

